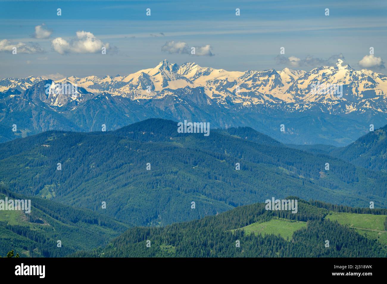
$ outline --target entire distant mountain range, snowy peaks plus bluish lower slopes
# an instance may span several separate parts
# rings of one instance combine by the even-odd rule
[[[77,88],[75,92],[61,92],[58,84]],[[325,87],[330,90],[325,91]],[[332,87],[341,90],[341,94],[332,92]],[[106,115],[117,116],[111,128],[148,117],[201,119],[211,121],[216,127],[252,126],[284,142],[313,143],[310,138],[290,138],[301,135],[295,126],[305,117],[308,124],[321,124],[317,128],[325,129],[327,125],[323,124],[334,127],[332,122],[327,122],[332,115],[340,116],[341,122],[352,121],[353,128],[357,129],[355,133],[360,131],[360,134],[368,122],[375,126],[386,124],[387,76],[366,69],[354,70],[341,59],[334,66],[321,66],[308,72],[289,68],[279,72],[274,69],[226,71],[163,60],[154,68],[126,76],[71,76],[55,82],[42,77],[0,80],[0,106],[4,112],[0,113],[1,124],[7,127],[15,111],[21,111],[27,103],[34,109],[31,116],[42,115],[41,109],[36,109],[38,106],[45,110],[45,115],[47,110],[55,112],[50,117],[62,117],[60,129],[66,130],[97,130],[99,126],[94,126],[95,120],[99,121],[97,109],[102,108]],[[127,119],[120,122],[119,117]],[[67,123],[66,119],[70,121]],[[271,125],[281,119],[288,122],[286,138],[276,132],[276,124]],[[264,121],[269,126],[259,126]],[[45,122],[43,127],[35,122],[33,129],[29,126],[26,131],[55,129],[57,123]],[[325,134],[318,131],[315,134],[316,142],[329,143],[327,138],[322,138]],[[342,145],[357,137],[333,135],[334,141],[330,144]]]

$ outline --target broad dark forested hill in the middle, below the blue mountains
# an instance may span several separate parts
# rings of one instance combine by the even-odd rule
[[[48,131],[2,143],[0,180],[19,194],[91,209],[129,225],[199,219],[288,195],[387,207],[385,173],[292,149],[250,128],[210,129],[204,136],[178,133],[177,122],[163,119],[116,131]]]

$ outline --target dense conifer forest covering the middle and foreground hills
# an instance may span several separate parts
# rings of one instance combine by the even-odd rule
[[[148,119],[116,131],[48,131],[0,144],[0,196],[32,206],[31,214],[0,212],[0,254],[386,256],[383,241],[327,218],[387,215],[383,171],[330,155],[332,147],[295,149],[248,127],[209,136],[176,129],[176,122]],[[265,210],[266,199],[286,196],[299,200],[296,214]],[[275,232],[292,222],[300,227],[286,237],[245,230],[275,220]]]

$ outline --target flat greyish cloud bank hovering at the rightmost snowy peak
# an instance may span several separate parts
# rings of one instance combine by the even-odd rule
[[[337,59],[344,60],[344,55],[335,54],[330,56],[327,59],[320,59],[317,57],[313,57],[311,55],[307,55],[305,59],[298,58],[296,56],[283,56],[283,55],[277,55],[276,58],[274,58],[277,61],[277,64],[280,65],[286,65],[291,67],[317,67],[317,66],[332,66],[336,63]]]

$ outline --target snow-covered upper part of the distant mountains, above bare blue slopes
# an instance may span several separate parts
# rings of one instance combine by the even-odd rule
[[[50,79],[50,78],[47,78]],[[42,77],[6,78],[0,80],[0,92],[10,88],[24,91]],[[167,60],[156,67],[137,71],[126,76],[75,76],[56,83],[70,82],[92,94],[108,92],[132,100],[161,99],[178,89],[203,88],[209,99],[219,104],[248,107],[256,104],[291,104],[299,111],[315,106],[329,113],[353,111],[387,112],[387,76],[370,70],[354,70],[341,59],[335,66],[321,66],[309,72],[285,68],[277,72],[247,70],[226,71],[201,67],[196,63],[177,65]],[[334,94],[316,94],[313,84],[342,85],[342,97]],[[71,98],[69,98],[71,99]],[[63,105],[67,100],[51,99],[50,105]],[[289,109],[289,107],[288,107]]]

